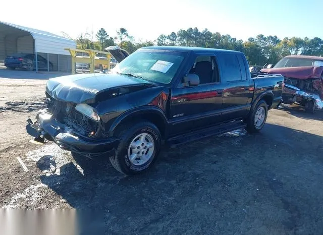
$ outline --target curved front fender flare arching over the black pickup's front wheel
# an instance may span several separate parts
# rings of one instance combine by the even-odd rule
[[[168,124],[168,120],[162,109],[152,105],[145,105],[145,106],[129,109],[123,112],[121,115],[119,115],[118,118],[110,126],[109,135],[113,136],[116,128],[126,119],[131,120],[135,116],[142,115],[142,114],[156,114],[161,120],[163,120],[165,125]]]

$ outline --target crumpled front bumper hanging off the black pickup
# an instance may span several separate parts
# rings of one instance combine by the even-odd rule
[[[26,131],[36,139],[54,141],[60,148],[76,152],[87,157],[106,154],[115,154],[120,139],[110,137],[107,139],[91,139],[77,134],[73,129],[59,123],[52,114],[40,110],[36,115],[36,122],[27,120]]]

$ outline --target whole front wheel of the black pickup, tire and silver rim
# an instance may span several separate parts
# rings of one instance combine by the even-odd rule
[[[118,136],[121,137],[121,141],[116,155],[110,157],[112,165],[127,175],[147,170],[160,150],[161,136],[158,128],[150,122],[143,121],[124,126]]]

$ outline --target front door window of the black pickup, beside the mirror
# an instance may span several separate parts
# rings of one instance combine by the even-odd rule
[[[196,74],[200,79],[200,84],[220,82],[215,56],[197,56],[189,73]]]

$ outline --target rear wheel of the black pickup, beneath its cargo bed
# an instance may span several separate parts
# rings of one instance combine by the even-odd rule
[[[259,132],[266,123],[267,112],[267,103],[264,100],[260,100],[247,120],[247,131],[250,133]]]

